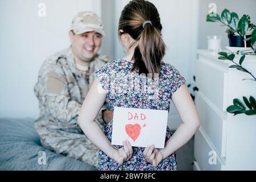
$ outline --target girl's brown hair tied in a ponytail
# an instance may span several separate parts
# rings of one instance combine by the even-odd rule
[[[150,20],[143,28],[143,23]],[[138,42],[134,50],[133,68],[139,73],[159,73],[161,61],[166,52],[166,44],[162,39],[162,24],[158,10],[151,2],[144,0],[130,1],[123,9],[118,31],[123,30]],[[122,35],[119,34],[119,37]]]

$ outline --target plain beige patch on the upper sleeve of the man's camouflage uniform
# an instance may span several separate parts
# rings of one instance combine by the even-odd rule
[[[66,84],[65,77],[56,72],[50,72],[47,76],[46,92],[61,94]]]

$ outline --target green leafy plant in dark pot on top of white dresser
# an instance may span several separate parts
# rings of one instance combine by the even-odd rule
[[[230,13],[225,9],[221,16],[218,14],[207,15],[207,22],[221,22],[224,26],[228,26],[228,35],[230,47],[251,47],[254,52],[256,42],[256,26],[251,23],[249,15],[243,15],[239,19],[237,13]],[[238,35],[238,36],[237,36]]]

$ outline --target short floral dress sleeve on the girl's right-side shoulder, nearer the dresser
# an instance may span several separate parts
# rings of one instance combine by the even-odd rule
[[[181,85],[185,84],[185,78],[180,75],[176,68],[171,66],[171,96],[180,88]]]

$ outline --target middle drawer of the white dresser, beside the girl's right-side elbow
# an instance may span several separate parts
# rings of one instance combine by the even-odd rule
[[[196,107],[201,127],[221,157],[226,156],[227,122],[222,113],[200,91],[196,93]]]

